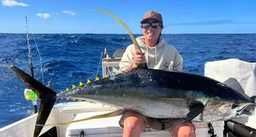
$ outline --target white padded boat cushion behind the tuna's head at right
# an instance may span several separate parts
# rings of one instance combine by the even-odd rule
[[[256,95],[256,63],[234,58],[206,62],[204,72],[206,77],[230,85],[249,97]]]

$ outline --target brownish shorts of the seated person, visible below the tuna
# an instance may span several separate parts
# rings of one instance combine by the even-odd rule
[[[120,120],[119,120],[119,125],[124,128],[124,115],[130,113],[131,111],[127,111],[126,113],[124,113]],[[134,112],[132,112],[134,113]],[[142,115],[143,116],[143,115]],[[143,116],[143,119],[145,121],[145,123],[147,125],[150,126],[150,128],[152,129],[156,129],[156,130],[170,130],[172,128],[174,128],[175,126],[184,123],[185,119],[177,119],[177,118],[173,118],[173,119],[156,119],[156,118],[150,118],[148,116]],[[190,122],[190,124],[192,125],[194,131],[195,131],[195,126],[192,122]]]

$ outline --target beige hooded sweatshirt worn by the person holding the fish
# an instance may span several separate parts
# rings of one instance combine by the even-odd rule
[[[137,37],[136,40],[142,52],[145,52],[147,68],[169,71],[183,70],[183,59],[178,50],[166,43],[163,38],[159,37],[159,43],[155,47],[148,47],[144,43],[144,36]],[[124,55],[122,55],[119,72],[129,69],[134,64],[132,59],[134,54],[135,45],[131,44],[126,48]]]

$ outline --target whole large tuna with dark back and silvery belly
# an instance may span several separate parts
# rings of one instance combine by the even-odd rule
[[[137,68],[130,72],[82,84],[56,94],[45,85],[8,66],[40,98],[34,136],[38,136],[57,98],[92,100],[119,108],[102,118],[136,111],[152,118],[218,121],[251,115],[254,99],[214,79],[201,75]],[[91,119],[93,119],[91,118]]]

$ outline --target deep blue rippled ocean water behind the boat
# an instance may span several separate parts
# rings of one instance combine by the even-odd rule
[[[33,108],[24,99],[26,85],[4,66],[16,65],[29,73],[26,37],[0,33],[0,128],[25,118]],[[163,34],[163,38],[179,50],[184,72],[203,75],[204,64],[214,60],[256,62],[256,34]],[[35,78],[44,84],[51,81],[56,92],[101,76],[104,49],[113,54],[132,43],[128,34],[29,34],[29,39]]]

